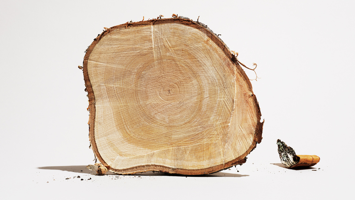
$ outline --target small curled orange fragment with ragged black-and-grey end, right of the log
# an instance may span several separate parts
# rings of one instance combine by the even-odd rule
[[[276,144],[282,164],[289,169],[311,167],[320,161],[320,157],[316,155],[296,155],[292,147],[287,146],[279,139]]]

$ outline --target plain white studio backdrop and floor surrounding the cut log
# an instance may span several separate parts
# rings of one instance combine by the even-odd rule
[[[350,0],[2,1],[1,195],[351,199],[354,6]],[[258,64],[261,79],[252,85],[265,119],[261,144],[242,166],[207,176],[90,174],[84,167],[94,163],[88,99],[77,67],[84,51],[103,27],[173,13],[195,21],[200,16],[239,52],[242,63]],[[283,168],[277,139],[297,154],[320,156],[320,163],[298,171]],[[73,178],[78,175],[84,180]]]

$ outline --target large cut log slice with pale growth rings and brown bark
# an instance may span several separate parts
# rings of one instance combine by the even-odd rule
[[[242,164],[261,142],[261,113],[236,57],[185,17],[105,31],[83,62],[89,139],[120,174],[209,174]]]

